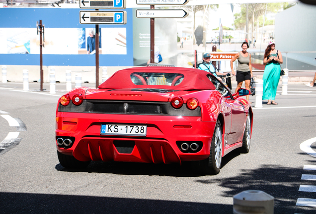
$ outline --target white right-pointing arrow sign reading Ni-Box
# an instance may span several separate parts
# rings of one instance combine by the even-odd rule
[[[188,13],[183,9],[148,9],[136,10],[137,18],[185,18]]]

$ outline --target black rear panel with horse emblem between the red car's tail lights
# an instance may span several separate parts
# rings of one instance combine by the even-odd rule
[[[110,113],[110,114],[143,114],[143,115],[172,115],[172,116],[201,116],[201,108],[190,110],[183,105],[179,109],[171,107],[169,102],[146,101],[108,101],[83,100],[80,106],[72,102],[68,106],[59,104],[58,111],[82,113]]]

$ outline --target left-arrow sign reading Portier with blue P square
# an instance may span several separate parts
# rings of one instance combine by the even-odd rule
[[[80,11],[80,24],[126,24],[126,11]]]

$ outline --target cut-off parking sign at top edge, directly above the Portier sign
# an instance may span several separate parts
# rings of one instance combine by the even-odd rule
[[[80,8],[124,9],[126,0],[79,0]]]

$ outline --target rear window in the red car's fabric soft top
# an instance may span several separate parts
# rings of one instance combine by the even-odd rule
[[[131,74],[131,80],[135,85],[179,85],[184,79],[180,73],[151,73],[134,72]]]

